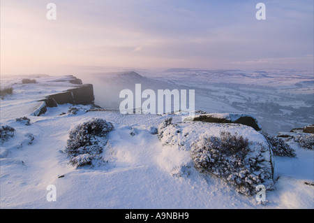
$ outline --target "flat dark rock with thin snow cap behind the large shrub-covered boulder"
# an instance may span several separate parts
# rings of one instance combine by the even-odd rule
[[[252,127],[256,131],[262,130],[259,122],[253,115],[231,114],[231,113],[208,113],[195,115],[193,118],[187,117],[184,121],[201,121],[212,123],[237,123]]]

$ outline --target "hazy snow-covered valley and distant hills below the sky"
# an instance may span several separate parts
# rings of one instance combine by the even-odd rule
[[[257,117],[269,134],[314,123],[313,71],[169,69],[137,73],[90,70],[75,75],[94,85],[95,103],[104,108],[119,108],[119,92],[134,90],[140,83],[142,91],[195,89],[196,110],[248,113]]]

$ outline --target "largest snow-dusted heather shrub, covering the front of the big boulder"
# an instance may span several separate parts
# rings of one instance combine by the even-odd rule
[[[191,145],[195,168],[234,185],[237,192],[251,196],[255,187],[272,178],[272,170],[264,163],[268,148],[257,143],[253,150],[248,139],[221,132],[220,137],[202,136]]]

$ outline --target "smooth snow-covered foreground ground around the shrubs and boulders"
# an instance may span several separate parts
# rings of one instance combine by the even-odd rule
[[[14,89],[13,95],[1,100],[1,125],[15,129],[15,136],[1,144],[1,208],[314,208],[313,150],[292,144],[297,157],[274,157],[276,189],[267,191],[263,205],[255,196],[241,195],[223,180],[193,167],[187,175],[175,174],[190,161],[188,150],[163,145],[149,128],[158,127],[166,117],[180,122],[184,115],[87,112],[90,106],[76,106],[80,110],[75,115],[68,113],[71,104],[31,115],[38,99],[73,87],[50,82],[57,78],[36,78],[38,84],[29,85],[22,85],[19,78],[14,82],[1,78],[1,87]],[[24,116],[30,125],[15,121]],[[102,154],[106,164],[70,166],[63,152],[68,133],[93,117],[114,125]],[[57,189],[57,201],[47,201],[49,185]]]

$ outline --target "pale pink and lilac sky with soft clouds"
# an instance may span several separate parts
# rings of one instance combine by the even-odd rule
[[[266,20],[256,18],[259,2]],[[48,3],[56,20],[47,19]],[[313,7],[313,0],[1,0],[1,75],[65,66],[313,70]]]

